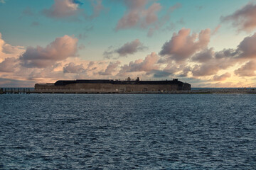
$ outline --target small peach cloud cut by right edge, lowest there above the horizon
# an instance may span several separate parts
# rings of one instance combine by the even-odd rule
[[[252,60],[242,65],[239,69],[235,70],[235,74],[239,77],[255,77],[256,61]]]

